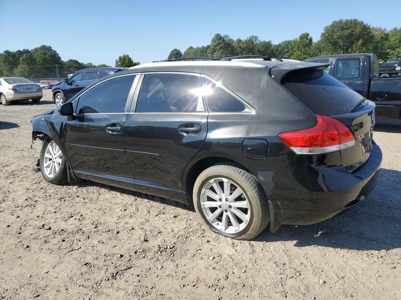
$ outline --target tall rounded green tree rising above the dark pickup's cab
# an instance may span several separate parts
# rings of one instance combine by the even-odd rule
[[[370,25],[358,19],[333,21],[320,35],[320,41],[331,54],[371,52],[373,40]]]

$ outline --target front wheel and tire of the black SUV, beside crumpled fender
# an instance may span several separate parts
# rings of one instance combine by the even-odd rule
[[[67,163],[61,149],[54,140],[47,137],[41,150],[41,173],[46,181],[53,184],[65,184],[67,178]]]

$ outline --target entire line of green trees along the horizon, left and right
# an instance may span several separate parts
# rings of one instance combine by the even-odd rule
[[[314,42],[308,32],[293,40],[284,40],[272,44],[270,40],[260,40],[257,36],[234,40],[228,35],[219,33],[213,36],[211,43],[206,46],[189,46],[184,53],[179,49],[171,50],[168,59],[181,57],[212,57],[223,58],[237,55],[262,55],[273,58],[279,57],[284,50],[288,51],[284,58],[304,60],[312,56],[375,53],[379,60],[385,58],[401,58],[401,27],[387,30],[373,27],[357,20],[336,20],[324,27],[320,39]],[[156,62],[156,61],[154,61]],[[130,68],[140,62],[134,62],[128,54],[115,60],[115,67]],[[51,46],[42,45],[32,50],[5,50],[0,53],[0,76],[18,76],[25,78],[67,77],[84,68],[109,67],[107,64],[94,65],[82,63],[75,59],[61,60],[56,50]]]

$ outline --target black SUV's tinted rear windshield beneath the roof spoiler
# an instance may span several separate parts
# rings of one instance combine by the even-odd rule
[[[363,97],[323,70],[292,72],[282,85],[314,114],[334,116],[350,112]]]

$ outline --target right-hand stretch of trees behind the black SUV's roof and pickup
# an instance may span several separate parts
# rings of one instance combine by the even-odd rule
[[[209,45],[189,46],[184,53],[177,48],[171,50],[168,59],[223,58],[250,54],[277,58],[290,47],[294,48],[288,51],[284,58],[294,60],[348,53],[375,53],[379,60],[401,58],[401,27],[387,30],[370,26],[357,19],[340,19],[324,27],[320,39],[316,42],[308,32],[305,32],[298,38],[285,40],[279,44],[272,44],[270,40],[260,40],[257,36],[234,40],[228,35],[218,33],[213,36]]]

